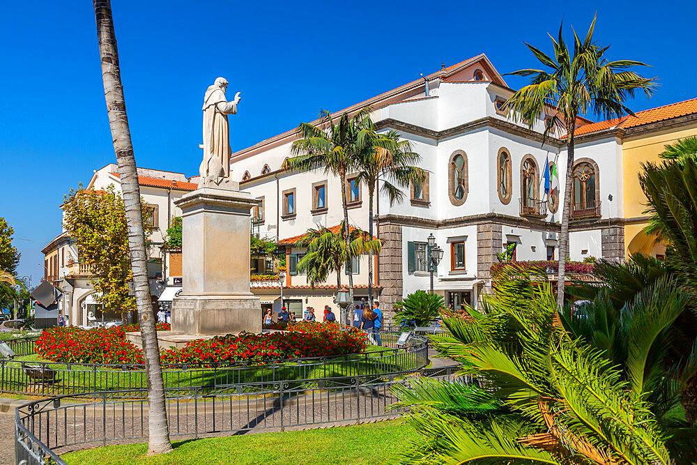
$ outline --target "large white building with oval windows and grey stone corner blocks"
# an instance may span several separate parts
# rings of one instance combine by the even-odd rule
[[[553,134],[542,144],[547,114],[539,116],[532,130],[510,121],[501,104],[512,92],[482,54],[449,68],[443,66],[427,77],[427,86],[425,80],[410,82],[337,112],[372,107],[378,128],[396,130],[411,141],[422,157],[420,166],[429,171],[422,189],[404,189],[404,203],[390,205],[386,197],[376,199],[375,230],[384,241],[375,264],[376,284],[388,312],[404,296],[428,289],[429,272],[419,257],[427,248],[429,234],[445,250],[434,289],[455,307],[465,301],[475,303],[477,295],[487,289],[491,265],[507,243],[517,244],[516,259],[521,261],[557,259],[559,205],[565,192],[562,186],[560,198],[551,199],[548,208],[539,183],[545,162],[558,160],[560,174],[565,173],[565,142],[558,138],[561,135]],[[588,123],[579,119],[577,125]],[[289,257],[302,253],[292,247],[293,238],[318,223],[332,227],[342,220],[337,178],[323,170],[291,173],[280,169],[292,156],[295,139],[294,131],[284,132],[233,153],[231,160],[231,176],[240,181],[240,189],[263,202],[261,236],[278,238],[288,247]],[[605,244],[617,238],[616,231],[613,235],[602,231],[610,229],[608,218],[622,218],[620,156],[621,146],[618,150],[611,137],[588,143],[579,138],[575,167],[587,171],[588,179],[577,187],[579,201],[574,204],[570,235],[572,260],[618,258],[619,252]],[[581,191],[588,192],[581,195]],[[365,186],[352,186],[351,192],[350,221],[367,229]],[[600,199],[609,194],[617,200],[601,204]],[[612,253],[603,254],[611,249]],[[623,247],[621,252],[623,256]],[[367,284],[367,266],[367,257],[362,257],[354,278],[358,287]],[[332,282],[330,278],[327,289],[336,291]],[[306,284],[299,275],[286,279],[288,291],[295,294],[307,292]],[[356,296],[365,292],[358,289]]]

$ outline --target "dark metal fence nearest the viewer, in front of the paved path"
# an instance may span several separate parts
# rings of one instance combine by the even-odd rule
[[[452,369],[440,369],[452,377]],[[445,373],[447,372],[447,374]],[[406,375],[406,374],[404,374]],[[412,374],[413,375],[413,374]],[[300,380],[298,383],[247,383],[219,386],[215,392],[181,388],[167,398],[171,436],[199,438],[229,435],[251,429],[284,431],[307,425],[344,425],[379,418],[394,418],[403,411],[390,409],[397,399],[392,386],[413,377],[379,376]],[[54,397],[17,409],[17,450],[29,464],[41,457],[56,457],[80,448],[132,443],[148,437],[148,406],[144,396],[123,392],[113,399],[100,393],[96,402],[66,402]],[[86,396],[91,399],[91,395]],[[71,397],[75,400],[75,396]],[[26,452],[24,452],[26,451]],[[43,455],[42,455],[43,453]],[[38,458],[37,458],[38,457]]]

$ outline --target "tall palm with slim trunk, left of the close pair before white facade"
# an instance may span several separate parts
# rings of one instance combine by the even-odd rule
[[[335,121],[335,116],[326,110],[320,112],[319,125],[300,123],[298,135],[301,139],[293,142],[294,155],[283,164],[284,169],[323,169],[334,174],[341,181],[344,226],[348,224],[346,206],[346,175],[358,165],[360,154],[365,148],[372,132],[370,109],[364,108],[353,116],[344,113]],[[350,250],[349,231],[344,229],[344,245]],[[346,257],[348,267],[348,293],[353,302],[353,270],[351,257]]]

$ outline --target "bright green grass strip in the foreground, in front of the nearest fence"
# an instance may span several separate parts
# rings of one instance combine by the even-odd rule
[[[70,452],[70,465],[379,465],[394,459],[409,440],[419,439],[404,420],[284,433],[247,434],[174,443],[174,452],[146,457],[147,444],[110,445]]]

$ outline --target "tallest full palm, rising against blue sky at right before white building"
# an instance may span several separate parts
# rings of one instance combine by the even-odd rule
[[[530,77],[530,84],[516,91],[505,103],[512,110],[514,121],[523,121],[530,128],[546,112],[554,112],[544,130],[544,137],[554,128],[565,128],[567,142],[567,165],[562,208],[561,233],[559,239],[559,272],[557,302],[564,305],[566,259],[569,252],[569,214],[572,208],[572,184],[574,181],[574,132],[576,120],[583,114],[593,113],[604,119],[620,118],[626,114],[634,116],[624,104],[633,98],[636,91],[643,90],[647,96],[656,85],[654,79],[641,77],[629,71],[632,66],[646,66],[639,61],[608,61],[608,47],[593,42],[595,18],[581,41],[574,31],[573,55],[562,38],[562,25],[558,40],[552,38],[554,57],[526,43],[542,65],[549,70],[525,69],[512,75]],[[550,36],[551,37],[551,36]]]

